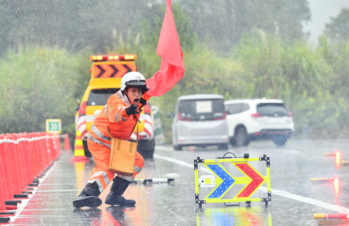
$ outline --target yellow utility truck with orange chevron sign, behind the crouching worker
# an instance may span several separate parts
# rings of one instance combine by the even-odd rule
[[[87,157],[91,157],[87,147],[87,134],[93,120],[104,108],[109,96],[120,89],[122,76],[127,72],[137,70],[135,59],[137,59],[137,55],[98,55],[90,57],[90,60],[93,61],[91,79],[81,101],[78,101],[75,114],[75,129],[81,133]],[[155,148],[154,130],[154,116],[147,104],[141,112],[138,125],[138,151],[144,158],[153,157]],[[136,139],[137,131],[135,129],[129,140],[136,141]]]

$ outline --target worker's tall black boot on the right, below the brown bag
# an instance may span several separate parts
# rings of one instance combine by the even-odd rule
[[[105,204],[108,205],[121,205],[121,206],[134,206],[136,201],[134,199],[126,199],[122,194],[129,186],[131,181],[125,180],[121,177],[116,176],[113,179],[113,184],[110,188],[110,193],[105,198]]]

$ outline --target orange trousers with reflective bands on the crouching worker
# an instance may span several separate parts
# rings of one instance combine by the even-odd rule
[[[108,186],[115,176],[115,173],[110,172],[109,162],[110,162],[110,148],[93,142],[90,139],[87,139],[88,149],[93,156],[93,160],[96,163],[96,167],[92,169],[90,178],[87,183],[96,182],[99,186],[100,193]],[[124,176],[118,174],[117,176],[124,178],[125,180],[132,181],[133,178],[140,172],[143,168],[144,159],[140,153],[136,152],[136,161],[135,161],[135,172],[132,176]]]

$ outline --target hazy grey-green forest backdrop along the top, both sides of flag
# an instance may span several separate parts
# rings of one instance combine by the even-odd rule
[[[104,54],[115,41],[146,35],[144,23],[145,28],[156,28],[165,5],[164,0],[0,0],[0,53],[35,44],[70,51],[89,46]],[[198,34],[200,42],[224,52],[252,28],[294,41],[303,36],[301,22],[310,19],[306,0],[180,0],[173,1],[172,8],[176,23],[182,25],[177,26],[180,40],[196,39]]]

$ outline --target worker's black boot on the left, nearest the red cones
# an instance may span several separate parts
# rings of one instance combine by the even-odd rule
[[[97,182],[86,184],[80,195],[73,200],[73,206],[75,208],[98,207],[102,205],[102,199],[98,198],[100,190]]]

